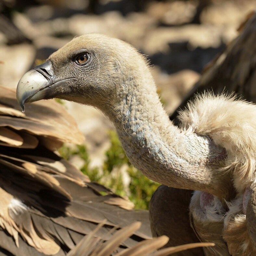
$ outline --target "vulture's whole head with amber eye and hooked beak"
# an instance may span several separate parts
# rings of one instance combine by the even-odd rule
[[[104,111],[117,102],[117,87],[145,66],[128,43],[100,34],[79,36],[26,73],[17,98],[23,110],[25,102],[58,97]]]

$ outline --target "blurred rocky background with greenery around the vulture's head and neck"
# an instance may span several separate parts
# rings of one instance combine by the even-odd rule
[[[147,56],[171,114],[255,7],[255,0],[0,0],[0,84],[16,88],[27,70],[74,36],[103,33]],[[131,166],[108,119],[96,109],[58,102],[85,135],[83,145],[64,145],[59,153],[91,180],[147,209],[159,184]]]

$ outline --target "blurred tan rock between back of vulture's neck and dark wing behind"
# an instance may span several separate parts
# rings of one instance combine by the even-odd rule
[[[152,69],[158,92],[164,104],[164,109],[171,114],[181,103],[184,96],[200,77],[192,70],[182,70],[172,75],[161,72],[159,67]]]

